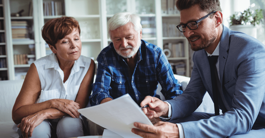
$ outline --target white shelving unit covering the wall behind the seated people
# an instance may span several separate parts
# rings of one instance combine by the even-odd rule
[[[27,72],[30,64],[14,64],[14,54],[29,54],[31,58],[39,59],[46,56],[46,42],[41,37],[41,28],[49,20],[62,15],[45,15],[44,2],[51,0],[3,0],[5,30],[0,30],[6,35],[6,55],[0,58],[7,59],[7,68],[1,71],[8,72],[8,79],[15,80],[17,72]],[[179,14],[164,14],[161,10],[161,0],[53,0],[64,5],[63,13],[79,21],[81,29],[82,55],[93,57],[95,62],[100,51],[108,46],[110,39],[107,33],[107,21],[117,12],[132,12],[141,17],[143,25],[143,40],[153,43],[164,49],[166,43],[182,42],[184,44],[183,57],[169,57],[169,62],[183,62],[185,64],[185,76],[190,76],[190,62],[188,42],[183,36],[163,36],[163,22],[167,21],[179,24]],[[28,15],[30,3],[32,3],[32,15]],[[172,4],[173,5],[173,4]],[[0,4],[1,7],[1,4]],[[24,9],[22,17],[11,17],[11,13]],[[47,9],[46,9],[47,10]],[[46,11],[47,12],[47,11]],[[1,20],[1,17],[0,17]],[[12,41],[11,21],[27,21],[34,31],[32,41]],[[30,54],[28,45],[35,45],[35,54]],[[1,74],[0,74],[1,75]],[[0,76],[1,77],[1,76]]]

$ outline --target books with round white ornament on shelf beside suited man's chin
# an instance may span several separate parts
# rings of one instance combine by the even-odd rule
[[[164,53],[167,58],[184,57],[184,43],[166,43],[164,44]]]

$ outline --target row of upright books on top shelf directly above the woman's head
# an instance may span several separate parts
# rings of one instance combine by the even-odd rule
[[[64,15],[64,8],[62,1],[43,1],[44,16]]]

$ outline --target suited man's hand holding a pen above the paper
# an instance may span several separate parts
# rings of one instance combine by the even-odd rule
[[[160,99],[152,96],[146,96],[141,102],[141,106],[149,105],[149,107],[143,108],[143,112],[146,116],[151,119],[153,117],[157,118],[162,115],[168,115],[168,104],[161,101]]]

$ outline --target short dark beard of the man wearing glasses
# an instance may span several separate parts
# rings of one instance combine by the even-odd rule
[[[188,41],[190,43],[191,49],[193,51],[199,51],[199,50],[202,50],[202,49],[205,49],[205,48],[209,47],[214,42],[216,37],[217,37],[216,30],[214,28],[212,28],[211,34],[207,35],[207,37],[205,39],[203,39],[201,41],[201,43],[199,45],[197,45],[197,46],[196,46],[196,44],[190,43],[190,41],[195,39],[195,38],[201,38],[200,35],[192,35],[192,36],[188,37],[187,39],[188,39]]]

